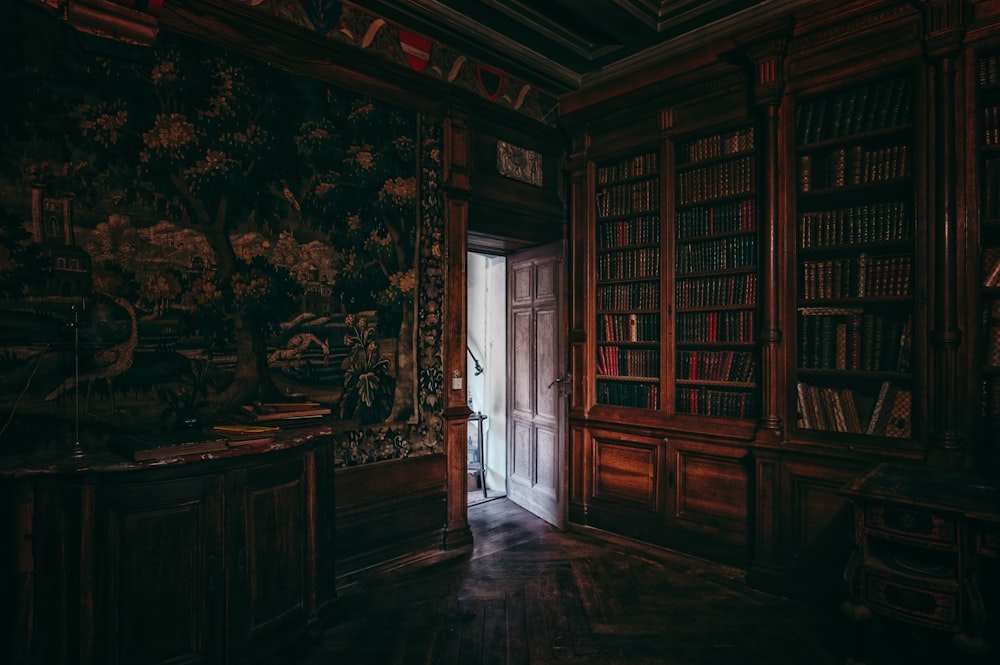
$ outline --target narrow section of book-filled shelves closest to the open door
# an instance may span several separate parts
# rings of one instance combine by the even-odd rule
[[[658,410],[661,390],[660,154],[596,168],[595,402]]]

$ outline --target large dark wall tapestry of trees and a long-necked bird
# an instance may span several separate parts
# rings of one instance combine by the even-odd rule
[[[440,123],[35,23],[0,34],[0,454],[296,402],[341,464],[440,450]]]

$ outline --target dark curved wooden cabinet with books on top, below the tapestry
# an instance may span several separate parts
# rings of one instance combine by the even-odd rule
[[[324,437],[213,459],[101,454],[0,475],[18,498],[12,663],[287,662],[336,597]],[[11,574],[11,572],[13,574]]]

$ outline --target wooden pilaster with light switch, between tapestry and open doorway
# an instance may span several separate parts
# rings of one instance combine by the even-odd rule
[[[469,232],[469,125],[455,113],[444,127],[445,300],[442,333],[444,364],[444,438],[448,455],[448,506],[444,547],[472,543],[465,493],[468,449],[468,377],[465,376],[468,316],[466,313],[466,246]]]

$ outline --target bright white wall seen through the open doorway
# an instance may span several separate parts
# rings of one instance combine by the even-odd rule
[[[471,408],[487,418],[483,422],[486,444],[486,487],[505,490],[507,480],[507,261],[503,257],[468,255],[469,348],[483,373],[476,376],[468,360]]]

